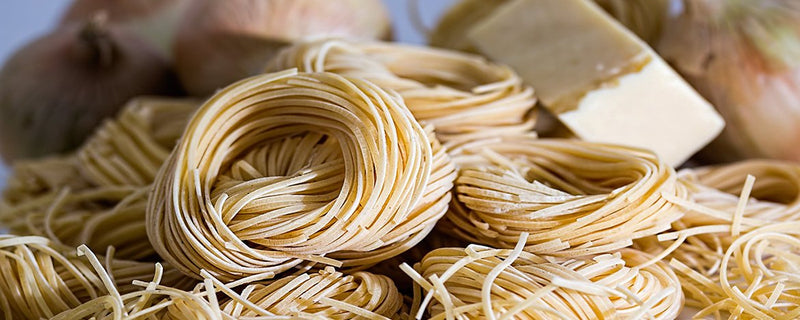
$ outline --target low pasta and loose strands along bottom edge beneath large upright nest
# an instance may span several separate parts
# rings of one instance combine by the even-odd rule
[[[368,272],[347,275],[326,268],[276,281],[265,282],[271,275],[258,275],[227,284],[204,273],[194,290],[183,291],[161,285],[161,270],[157,265],[149,283],[134,281],[136,291],[100,296],[53,319],[385,320],[402,305],[391,279]],[[105,271],[100,268],[97,273]]]

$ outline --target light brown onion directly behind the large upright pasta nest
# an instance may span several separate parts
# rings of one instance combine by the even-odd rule
[[[205,96],[261,73],[292,41],[386,39],[390,33],[380,0],[196,0],[178,27],[173,53],[184,87]]]

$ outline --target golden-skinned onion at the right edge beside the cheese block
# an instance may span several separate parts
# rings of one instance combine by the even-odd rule
[[[800,3],[684,0],[658,50],[728,124],[703,161],[800,161]]]

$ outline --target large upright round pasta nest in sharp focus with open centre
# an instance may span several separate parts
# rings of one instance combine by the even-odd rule
[[[299,264],[375,264],[419,242],[454,179],[402,99],[372,83],[289,70],[218,92],[156,177],[150,242],[224,281]]]

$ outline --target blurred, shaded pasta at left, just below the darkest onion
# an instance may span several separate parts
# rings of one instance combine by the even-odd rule
[[[150,184],[196,106],[192,100],[134,99],[75,154],[15,166],[0,223],[59,245],[114,246],[119,258],[154,258],[145,228]]]

